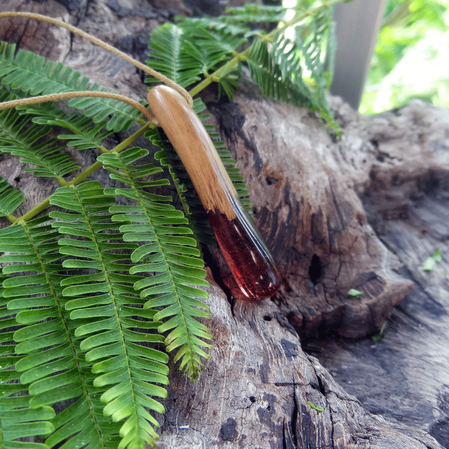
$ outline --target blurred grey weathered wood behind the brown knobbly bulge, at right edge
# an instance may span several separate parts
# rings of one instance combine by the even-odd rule
[[[449,113],[413,101],[362,120],[380,163],[362,201],[415,289],[393,309],[379,342],[328,338],[313,345],[367,410],[430,432],[449,448]],[[440,163],[428,166],[427,157]],[[442,263],[423,271],[437,248]]]

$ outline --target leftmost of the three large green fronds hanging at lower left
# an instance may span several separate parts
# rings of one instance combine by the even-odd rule
[[[15,385],[28,391],[32,410],[46,410],[79,397],[76,413],[62,412],[51,420],[55,432],[47,439],[48,447],[66,439],[67,444],[76,443],[81,432],[87,432],[92,445],[97,445],[92,447],[104,447],[111,426],[99,429],[103,413],[95,408],[91,368],[83,362],[73,339],[73,323],[64,310],[67,299],[59,286],[58,235],[48,217],[0,230],[0,251],[7,251],[0,262],[7,263],[3,273],[9,276],[3,280],[3,298],[18,326],[11,338],[17,343],[12,346],[15,370],[9,372],[20,374],[20,383]],[[74,422],[82,423],[82,428],[73,426]]]

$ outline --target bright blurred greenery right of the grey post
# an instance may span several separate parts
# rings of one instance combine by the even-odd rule
[[[417,97],[449,105],[448,23],[447,1],[386,2],[361,112],[382,112]]]

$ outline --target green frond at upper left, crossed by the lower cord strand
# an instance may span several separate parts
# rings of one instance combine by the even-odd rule
[[[87,77],[60,62],[45,62],[42,56],[22,49],[15,54],[15,45],[6,42],[0,42],[0,77],[2,84],[13,89],[19,97],[23,96],[20,92],[25,96],[82,90],[107,92],[96,83],[89,86]],[[84,114],[96,123],[112,115],[107,129],[114,132],[127,131],[141,117],[132,106],[107,98],[74,98],[68,105],[84,109]]]

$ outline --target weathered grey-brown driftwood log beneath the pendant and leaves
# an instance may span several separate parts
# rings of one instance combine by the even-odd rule
[[[142,57],[151,29],[197,3],[1,0],[0,8],[62,18]],[[145,98],[132,66],[64,29],[20,19],[0,29],[2,39]],[[339,139],[314,113],[262,98],[247,81],[233,101],[212,91],[205,100],[283,283],[259,304],[229,301],[211,250],[214,349],[196,384],[171,367],[159,447],[449,448],[448,111],[415,101],[363,117],[332,98]],[[82,165],[92,157],[78,154]],[[0,161],[26,207],[55,187],[15,158]],[[443,262],[423,271],[437,248]],[[361,297],[348,297],[350,288]]]

